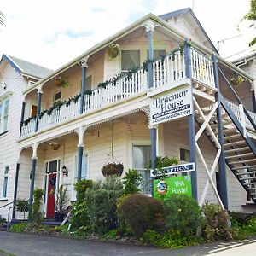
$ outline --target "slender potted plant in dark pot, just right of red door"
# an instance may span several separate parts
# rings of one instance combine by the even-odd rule
[[[55,221],[63,221],[67,207],[67,188],[64,189],[63,185],[59,188],[56,206],[55,206]]]

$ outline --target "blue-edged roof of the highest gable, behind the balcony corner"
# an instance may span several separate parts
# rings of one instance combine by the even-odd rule
[[[207,32],[204,30],[204,28],[201,26],[201,23],[199,22],[199,20],[196,18],[193,10],[189,7],[189,8],[184,8],[184,9],[178,9],[176,11],[173,11],[171,13],[167,13],[165,15],[159,15],[159,17],[162,19],[162,20],[169,20],[169,19],[172,19],[174,17],[177,17],[178,15],[185,15],[185,14],[190,14],[193,19],[195,20],[195,23],[197,24],[197,26],[200,27],[201,29],[201,32],[203,33],[203,35],[207,38],[207,41],[209,42],[209,44],[211,45],[212,49],[214,49],[217,53],[218,53],[218,50],[215,48],[214,44],[212,44],[212,41],[211,39],[208,37],[207,35]]]

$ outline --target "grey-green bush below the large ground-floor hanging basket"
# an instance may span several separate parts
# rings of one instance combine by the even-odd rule
[[[123,195],[123,185],[119,178],[108,177],[103,183],[97,182],[85,195],[90,228],[102,235],[116,229],[118,224],[116,203]]]

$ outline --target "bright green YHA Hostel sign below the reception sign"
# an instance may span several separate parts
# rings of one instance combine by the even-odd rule
[[[154,198],[168,199],[174,194],[192,196],[191,177],[166,177],[154,179]]]

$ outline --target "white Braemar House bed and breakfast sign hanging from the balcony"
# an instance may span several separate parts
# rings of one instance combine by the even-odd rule
[[[152,97],[150,102],[150,125],[179,119],[192,113],[190,84],[178,86]]]

